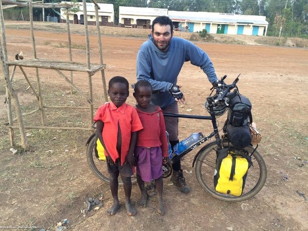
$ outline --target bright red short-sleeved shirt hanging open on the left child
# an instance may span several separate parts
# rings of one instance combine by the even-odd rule
[[[113,102],[107,102],[100,106],[94,116],[94,121],[101,120],[104,123],[102,132],[105,147],[113,161],[119,158],[117,151],[118,123],[120,124],[122,145],[121,165],[129,151],[131,134],[143,129],[142,123],[137,114],[136,108],[123,103],[116,107]],[[105,153],[107,155],[107,153]]]

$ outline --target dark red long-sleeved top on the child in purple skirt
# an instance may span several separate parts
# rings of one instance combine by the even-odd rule
[[[143,130],[138,131],[136,146],[139,147],[159,147],[162,155],[168,156],[168,142],[166,127],[162,110],[158,106],[157,111],[143,112],[137,108],[137,113],[143,125]]]

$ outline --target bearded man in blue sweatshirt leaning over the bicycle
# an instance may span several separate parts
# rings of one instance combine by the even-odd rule
[[[200,67],[209,81],[214,86],[217,85],[218,79],[208,55],[190,41],[173,37],[173,23],[169,17],[156,17],[149,40],[141,45],[137,55],[137,80],[146,79],[154,91],[159,91],[152,95],[152,103],[159,105],[164,113],[178,114],[177,103],[185,103],[177,77],[186,61]],[[179,142],[178,118],[164,119],[173,147]],[[172,169],[171,181],[181,192],[188,193],[190,187],[185,182],[181,162],[172,164]]]

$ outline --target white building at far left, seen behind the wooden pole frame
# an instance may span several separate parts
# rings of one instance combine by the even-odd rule
[[[61,3],[65,4],[73,4],[71,1],[61,1]],[[78,2],[79,11],[72,12],[69,11],[69,20],[74,24],[84,24],[84,15],[83,15],[83,5],[82,2]],[[98,9],[98,22],[102,26],[114,26],[114,9],[113,4],[104,4],[97,3],[100,7]],[[60,13],[63,17],[61,17],[61,22],[66,22],[67,12],[65,8],[60,9]],[[96,17],[95,17],[95,8],[94,3],[86,3],[86,14],[87,14],[87,22],[88,25],[96,25]]]

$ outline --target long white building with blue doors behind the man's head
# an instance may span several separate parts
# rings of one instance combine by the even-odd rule
[[[155,17],[169,16],[175,30],[198,32],[206,29],[211,34],[266,35],[265,16],[212,12],[173,11],[160,8],[119,7],[119,26],[151,28]]]

